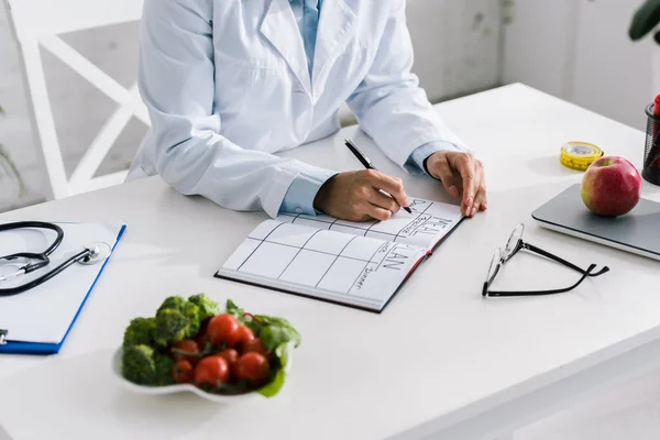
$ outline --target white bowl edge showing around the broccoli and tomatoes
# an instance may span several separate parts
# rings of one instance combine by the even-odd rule
[[[284,369],[285,373],[289,373],[292,369],[294,348],[292,344],[287,346],[287,363]],[[120,346],[112,356],[112,373],[114,373],[114,377],[118,380],[119,385],[133,393],[145,394],[145,395],[164,395],[164,394],[176,394],[176,393],[195,393],[199,397],[204,397],[207,400],[217,402],[220,404],[234,404],[239,402],[244,402],[250,398],[254,398],[256,396],[262,396],[257,392],[250,392],[245,394],[238,394],[232,396],[223,396],[220,394],[211,394],[207,393],[204,389],[196,387],[193,384],[174,384],[174,385],[165,385],[165,386],[145,386],[138,385],[128,381],[121,374],[121,361],[122,361],[123,349]],[[286,384],[285,384],[286,385]],[[264,397],[264,396],[262,396]]]

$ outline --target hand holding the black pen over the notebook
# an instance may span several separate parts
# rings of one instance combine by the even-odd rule
[[[350,221],[385,221],[402,206],[408,206],[402,179],[373,169],[336,174],[321,186],[314,200],[315,209]]]

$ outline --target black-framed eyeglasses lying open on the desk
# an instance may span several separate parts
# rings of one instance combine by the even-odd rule
[[[525,224],[520,223],[514,229],[508,241],[506,242],[506,246],[504,250],[497,248],[495,250],[495,254],[493,255],[493,260],[491,261],[491,266],[488,267],[488,274],[486,276],[486,280],[484,282],[484,288],[482,292],[483,296],[488,297],[503,297],[503,296],[532,296],[532,295],[552,295],[552,294],[562,294],[564,292],[570,292],[578,287],[584,279],[587,277],[594,277],[598,275],[603,275],[604,273],[609,271],[609,267],[604,266],[598,272],[594,272],[596,270],[595,264],[591,264],[588,268],[585,271],[573,263],[570,263],[563,258],[560,258],[557,255],[551,254],[550,252],[543,251],[540,248],[535,246],[534,244],[526,243],[522,241],[522,232],[525,232]],[[495,280],[495,277],[502,270],[502,267],[514,257],[519,251],[529,251],[537,253],[541,256],[550,258],[557,263],[563,264],[566,267],[572,268],[573,271],[582,274],[580,279],[570,287],[551,289],[551,290],[518,290],[518,292],[495,292],[491,290],[491,285]]]

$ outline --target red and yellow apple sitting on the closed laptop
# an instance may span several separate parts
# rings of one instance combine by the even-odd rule
[[[592,163],[582,178],[582,201],[594,213],[623,216],[639,201],[641,176],[628,160],[604,156]]]

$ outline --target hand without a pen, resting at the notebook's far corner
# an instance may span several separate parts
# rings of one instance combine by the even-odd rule
[[[442,182],[452,197],[462,197],[461,212],[474,217],[484,211],[486,202],[486,180],[484,166],[469,153],[438,152],[429,156],[426,167],[431,176]]]

